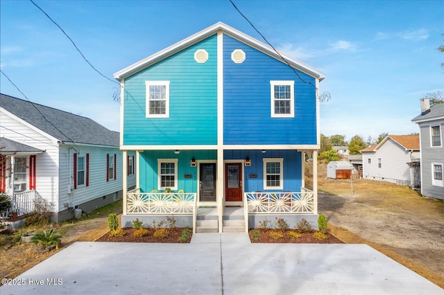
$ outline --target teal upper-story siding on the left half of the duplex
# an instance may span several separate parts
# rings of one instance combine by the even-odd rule
[[[208,60],[194,53],[205,49]],[[216,35],[126,78],[123,145],[217,144]],[[146,81],[169,81],[169,118],[146,118]]]

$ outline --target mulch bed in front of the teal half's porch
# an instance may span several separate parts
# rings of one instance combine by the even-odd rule
[[[148,235],[140,238],[135,238],[133,236],[135,229],[133,229],[132,227],[127,227],[123,230],[125,231],[125,235],[123,235],[122,237],[110,237],[110,233],[108,232],[97,239],[96,242],[178,243],[184,229],[168,229],[168,236],[166,238],[155,238],[155,229],[153,228],[147,229]],[[190,231],[189,238],[186,240],[185,243],[189,243],[191,241],[191,235],[192,231]]]

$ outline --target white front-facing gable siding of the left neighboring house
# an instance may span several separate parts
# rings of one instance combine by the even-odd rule
[[[44,151],[35,157],[35,190],[51,204],[50,210],[56,211],[59,205],[57,141],[3,111],[0,111],[0,122],[0,136]],[[27,158],[29,161],[29,156]],[[27,182],[28,179],[29,169],[26,169]]]

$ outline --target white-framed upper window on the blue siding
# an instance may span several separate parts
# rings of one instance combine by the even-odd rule
[[[271,117],[294,117],[294,81],[270,81]]]

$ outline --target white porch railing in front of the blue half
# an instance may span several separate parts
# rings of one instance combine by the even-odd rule
[[[300,193],[245,193],[248,214],[314,214],[314,193],[301,188]]]

